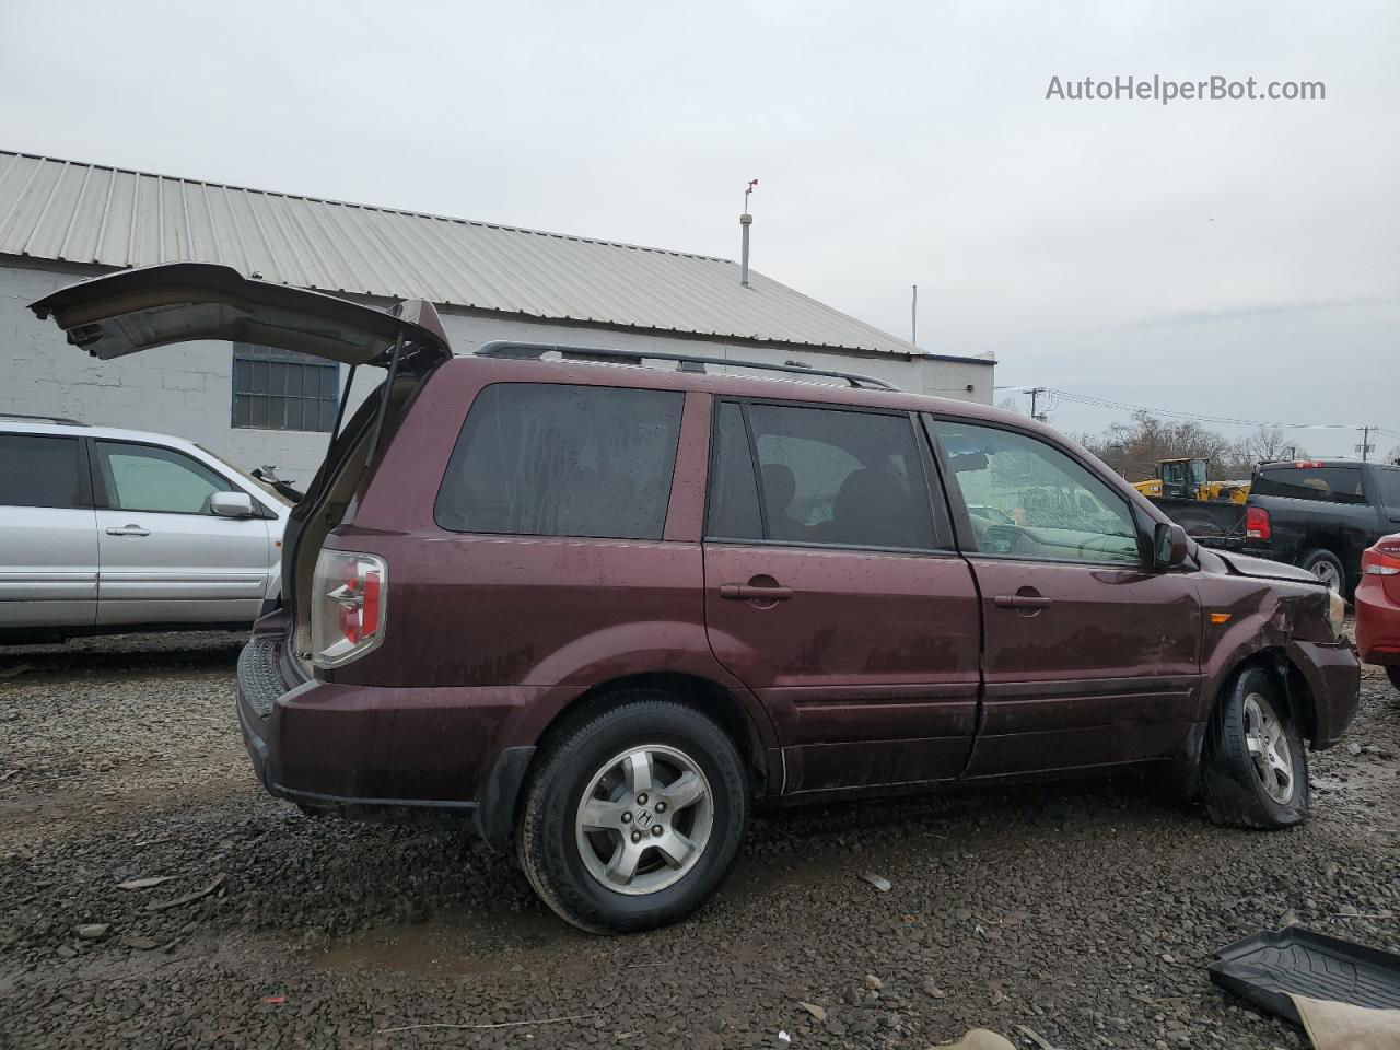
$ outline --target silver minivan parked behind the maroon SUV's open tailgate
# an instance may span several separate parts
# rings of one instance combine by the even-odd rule
[[[0,643],[246,627],[288,510],[193,441],[0,414]]]

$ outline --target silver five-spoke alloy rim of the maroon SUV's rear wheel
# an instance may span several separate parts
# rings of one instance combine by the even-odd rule
[[[648,743],[615,755],[578,801],[574,837],[588,874],[617,893],[657,893],[690,872],[714,827],[700,764]]]

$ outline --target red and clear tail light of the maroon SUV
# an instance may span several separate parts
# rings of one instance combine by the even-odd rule
[[[322,549],[312,577],[311,662],[333,668],[384,641],[389,570],[382,557]]]

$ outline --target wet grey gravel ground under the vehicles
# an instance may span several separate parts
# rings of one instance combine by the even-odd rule
[[[1400,696],[1375,668],[1303,827],[1212,827],[1141,781],[792,809],[697,918],[609,939],[466,830],[263,797],[237,647],[0,650],[0,1046],[1029,1046],[1023,1025],[1065,1050],[1301,1047],[1210,984],[1212,949],[1292,921],[1400,949]]]

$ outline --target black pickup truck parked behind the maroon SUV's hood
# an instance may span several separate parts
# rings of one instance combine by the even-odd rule
[[[1254,469],[1246,554],[1289,561],[1350,596],[1361,552],[1389,532],[1400,532],[1400,466],[1299,459]]]

